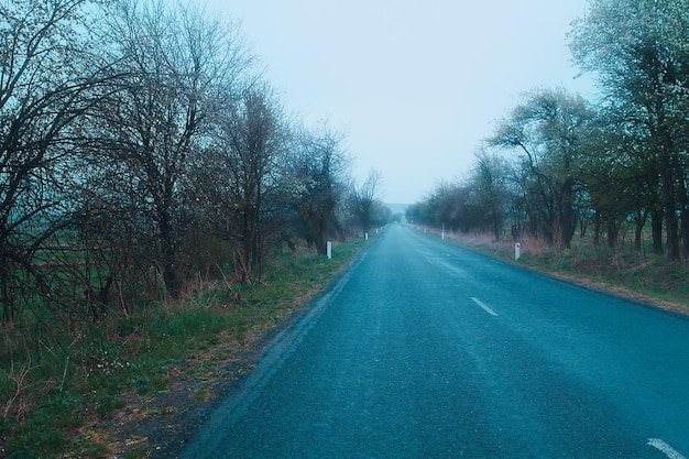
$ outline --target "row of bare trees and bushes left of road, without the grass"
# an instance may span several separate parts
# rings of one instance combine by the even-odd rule
[[[386,221],[378,174],[353,184],[342,135],[287,116],[259,68],[192,3],[3,1],[1,321],[254,283],[274,250]]]

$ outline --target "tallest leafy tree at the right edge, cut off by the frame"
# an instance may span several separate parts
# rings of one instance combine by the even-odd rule
[[[668,260],[680,258],[680,219],[682,234],[689,236],[688,11],[686,0],[591,0],[570,35],[575,61],[595,74],[611,107],[634,125],[625,132],[634,143],[630,153],[657,171],[647,186],[660,189],[657,207],[665,219]]]

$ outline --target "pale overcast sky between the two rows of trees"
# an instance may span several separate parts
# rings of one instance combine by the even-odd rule
[[[199,0],[241,21],[289,112],[347,133],[359,181],[413,204],[467,176],[496,120],[537,87],[583,96],[566,34],[586,0]]]

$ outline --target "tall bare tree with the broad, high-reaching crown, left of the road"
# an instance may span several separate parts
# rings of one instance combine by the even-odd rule
[[[210,121],[236,97],[250,59],[232,24],[164,2],[121,1],[110,32],[125,77],[103,109],[102,144],[140,193],[140,214],[150,218],[142,229],[153,228],[154,262],[177,295],[188,157],[209,142]]]

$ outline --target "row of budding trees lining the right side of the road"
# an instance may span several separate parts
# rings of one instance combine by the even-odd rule
[[[637,250],[649,222],[654,253],[686,259],[689,1],[591,0],[568,41],[599,100],[525,94],[480,145],[468,179],[438,186],[407,219],[495,239],[507,229],[559,248],[577,230],[610,247],[632,230]]]

